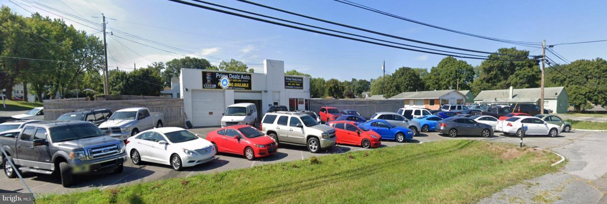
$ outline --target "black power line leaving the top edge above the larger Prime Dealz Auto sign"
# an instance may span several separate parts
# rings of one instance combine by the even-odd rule
[[[169,0],[169,1],[172,1],[172,0]],[[176,1],[180,1],[180,0],[176,0]],[[202,2],[200,0],[192,0],[192,1]],[[328,20],[320,19],[320,18],[314,18],[312,16],[302,15],[302,14],[295,13],[295,12],[289,12],[287,10],[282,10],[280,8],[275,8],[275,7],[270,7],[268,5],[258,4],[256,2],[251,2],[251,1],[246,1],[246,0],[236,0],[236,1],[245,2],[247,4],[257,5],[259,7],[269,8],[271,10],[276,10],[276,11],[283,12],[283,13],[288,13],[288,14],[291,14],[291,15],[296,15],[296,16],[300,16],[300,17],[304,17],[304,18],[308,18],[308,19],[313,19],[313,20],[316,20],[316,21],[326,22],[328,24],[339,25],[339,26],[342,26],[342,27],[352,28],[352,29],[355,29],[355,30],[361,30],[361,31],[365,31],[365,32],[368,32],[368,33],[373,33],[373,34],[376,34],[376,35],[382,35],[382,36],[387,36],[387,37],[390,37],[390,38],[401,39],[401,40],[404,40],[404,41],[417,42],[419,44],[432,45],[432,46],[436,46],[436,47],[449,48],[449,49],[453,49],[453,50],[471,51],[471,52],[475,52],[475,53],[484,53],[484,54],[499,54],[499,53],[492,53],[492,52],[488,52],[488,51],[470,50],[470,49],[466,49],[466,48],[451,47],[451,46],[447,46],[447,45],[434,44],[432,42],[424,42],[424,41],[418,41],[418,40],[415,40],[415,39],[402,38],[402,37],[399,37],[399,36],[388,35],[388,34],[385,34],[385,33],[378,32],[378,31],[367,30],[365,28],[354,27],[354,26],[351,26],[351,25],[341,24],[341,23],[338,23],[338,22],[328,21]],[[500,55],[517,56],[517,55],[511,55],[511,54],[500,54]]]

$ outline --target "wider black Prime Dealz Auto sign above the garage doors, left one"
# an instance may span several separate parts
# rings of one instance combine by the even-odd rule
[[[202,88],[251,90],[251,74],[203,71]]]

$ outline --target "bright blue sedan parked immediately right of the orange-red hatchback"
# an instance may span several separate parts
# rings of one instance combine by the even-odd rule
[[[378,133],[381,139],[396,140],[396,142],[413,139],[413,133],[409,128],[393,126],[385,120],[373,119],[362,125]]]

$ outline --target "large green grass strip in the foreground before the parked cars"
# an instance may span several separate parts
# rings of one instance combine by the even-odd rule
[[[558,171],[551,164],[559,159],[504,143],[446,140],[46,195],[38,203],[471,203]]]

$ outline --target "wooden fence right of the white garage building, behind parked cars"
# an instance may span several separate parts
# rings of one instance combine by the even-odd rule
[[[310,110],[316,114],[320,107],[336,107],[339,110],[356,110],[365,119],[377,112],[396,112],[404,106],[404,99],[310,99],[309,104]]]

